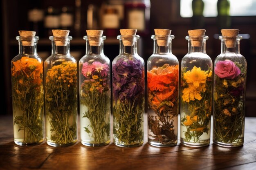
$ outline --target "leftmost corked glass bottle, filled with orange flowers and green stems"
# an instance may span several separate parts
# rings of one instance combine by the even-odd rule
[[[14,142],[20,146],[44,141],[43,60],[34,31],[19,31],[19,54],[11,60]]]

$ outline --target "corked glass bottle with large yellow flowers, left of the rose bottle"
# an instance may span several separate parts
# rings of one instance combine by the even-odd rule
[[[212,60],[206,53],[205,30],[188,32],[188,53],[181,62],[180,141],[201,147],[210,143]]]

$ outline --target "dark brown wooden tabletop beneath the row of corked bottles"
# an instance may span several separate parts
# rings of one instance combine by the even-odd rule
[[[212,142],[189,148],[180,141],[157,148],[147,143],[144,128],[144,144],[137,148],[120,148],[112,142],[91,148],[80,141],[63,148],[46,142],[27,147],[14,144],[12,117],[0,116],[0,170],[256,170],[256,117],[246,117],[245,143],[238,148]]]

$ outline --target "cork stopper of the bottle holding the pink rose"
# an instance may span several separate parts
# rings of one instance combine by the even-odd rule
[[[225,38],[227,48],[234,48],[236,46],[236,36],[239,33],[239,29],[222,29],[220,31],[222,36],[228,36]]]

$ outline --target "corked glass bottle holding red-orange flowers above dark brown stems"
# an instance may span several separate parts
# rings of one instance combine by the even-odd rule
[[[177,144],[179,61],[172,53],[171,30],[155,29],[154,53],[147,62],[148,143]]]

